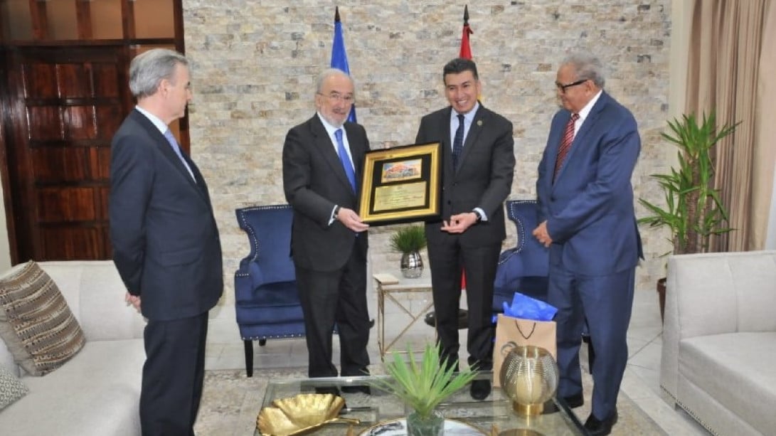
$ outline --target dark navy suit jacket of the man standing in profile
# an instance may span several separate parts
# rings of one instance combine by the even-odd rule
[[[192,179],[164,135],[137,109],[111,144],[113,262],[150,320],[193,317],[223,292],[221,244],[207,186]]]

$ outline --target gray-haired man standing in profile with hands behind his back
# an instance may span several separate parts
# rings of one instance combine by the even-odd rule
[[[113,137],[109,214],[126,300],[148,319],[140,424],[144,435],[190,435],[223,270],[207,186],[168,128],[192,97],[188,61],[165,49],[138,55],[130,91],[137,106]]]

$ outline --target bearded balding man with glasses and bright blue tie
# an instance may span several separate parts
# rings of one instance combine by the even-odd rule
[[[317,113],[294,126],[283,145],[283,189],[293,207],[291,253],[296,268],[310,377],[337,376],[331,358],[334,324],[341,375],[364,375],[369,365],[366,250],[369,226],[355,212],[369,140],[346,122],[354,86],[329,69],[317,81]]]

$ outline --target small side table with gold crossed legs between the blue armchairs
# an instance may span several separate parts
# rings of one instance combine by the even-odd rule
[[[407,333],[407,330],[412,327],[415,322],[423,316],[424,313],[431,310],[434,306],[434,300],[430,299],[429,303],[425,304],[421,310],[411,310],[411,307],[407,307],[406,303],[402,303],[400,299],[397,299],[396,294],[408,293],[408,292],[429,292],[431,293],[431,279],[426,276],[422,276],[417,279],[406,279],[402,277],[397,279],[397,275],[393,273],[380,272],[372,275],[372,278],[376,282],[377,291],[377,348],[380,351],[380,360],[385,361],[385,355],[393,347],[393,344]],[[410,317],[410,322],[404,326],[404,329],[393,338],[390,343],[386,344],[386,320],[385,320],[385,304],[386,299],[395,304],[407,316]]]

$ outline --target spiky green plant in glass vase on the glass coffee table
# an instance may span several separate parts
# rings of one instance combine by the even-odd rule
[[[469,366],[454,372],[455,365],[440,361],[439,344],[426,344],[421,362],[416,362],[409,346],[409,363],[393,352],[393,360],[386,362],[391,379],[376,379],[373,386],[398,396],[413,411],[407,416],[407,434],[411,436],[438,436],[444,430],[445,418],[436,410],[439,403],[466,386],[477,375]]]

